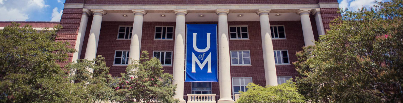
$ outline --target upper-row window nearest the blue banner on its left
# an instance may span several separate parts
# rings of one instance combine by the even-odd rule
[[[173,26],[157,26],[155,27],[155,39],[172,39]]]

